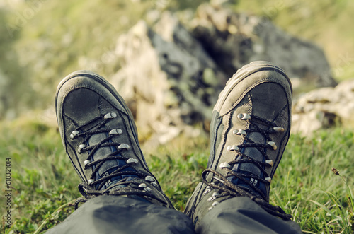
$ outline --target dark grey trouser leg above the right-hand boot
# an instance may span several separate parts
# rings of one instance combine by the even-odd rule
[[[248,197],[234,197],[217,204],[196,227],[197,233],[302,233],[293,221],[264,211]]]

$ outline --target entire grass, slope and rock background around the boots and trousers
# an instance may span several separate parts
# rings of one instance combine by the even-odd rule
[[[51,228],[79,197],[54,110],[67,74],[87,69],[113,83],[135,116],[150,169],[182,211],[207,165],[219,91],[255,59],[285,68],[292,129],[315,133],[292,135],[272,203],[284,199],[280,206],[307,233],[351,233],[354,206],[342,207],[353,205],[353,195],[331,168],[353,177],[352,23],[352,0],[1,0],[0,158],[11,158],[13,189],[7,233]],[[155,150],[146,153],[148,146]],[[347,212],[343,223],[311,201]]]

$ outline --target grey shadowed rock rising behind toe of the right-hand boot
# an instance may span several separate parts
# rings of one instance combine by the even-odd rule
[[[290,78],[317,87],[336,86],[321,48],[285,33],[266,18],[202,4],[190,28],[229,76],[249,62],[266,60],[285,69]]]

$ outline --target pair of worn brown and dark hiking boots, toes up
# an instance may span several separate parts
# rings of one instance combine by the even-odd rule
[[[290,218],[268,201],[290,135],[291,103],[290,79],[269,62],[252,62],[229,79],[212,112],[207,169],[185,209],[196,226],[233,197],[249,197]],[[59,83],[55,105],[64,148],[82,180],[76,207],[106,194],[174,209],[149,171],[132,113],[108,81],[91,71],[69,74]]]

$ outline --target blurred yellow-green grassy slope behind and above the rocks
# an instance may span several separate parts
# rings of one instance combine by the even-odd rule
[[[50,107],[57,83],[72,71],[115,74],[121,64],[108,53],[139,20],[151,22],[147,18],[152,11],[171,11],[183,22],[206,2],[1,1],[0,119]],[[212,4],[269,18],[282,30],[322,47],[336,81],[354,77],[353,1],[215,0]]]

